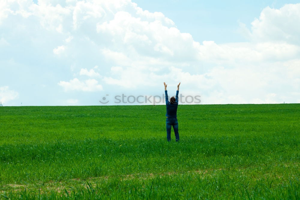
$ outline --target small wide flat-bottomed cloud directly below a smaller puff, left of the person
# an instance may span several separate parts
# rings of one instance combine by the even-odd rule
[[[62,86],[65,91],[83,91],[83,92],[95,92],[103,90],[102,85],[98,84],[95,79],[88,79],[85,81],[80,81],[77,78],[70,80],[69,82],[60,81],[59,86]]]

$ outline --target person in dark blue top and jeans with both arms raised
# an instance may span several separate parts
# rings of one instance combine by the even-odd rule
[[[167,114],[166,114],[167,140],[171,141],[171,128],[173,126],[176,142],[179,142],[178,120],[177,120],[179,85],[180,83],[177,85],[177,91],[175,97],[172,96],[169,102],[167,85],[164,82],[165,95],[166,95],[166,107],[167,107]]]

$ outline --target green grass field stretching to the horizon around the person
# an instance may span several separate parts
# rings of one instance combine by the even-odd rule
[[[0,107],[0,199],[300,199],[300,104]]]

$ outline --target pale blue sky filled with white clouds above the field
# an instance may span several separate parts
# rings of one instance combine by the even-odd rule
[[[165,81],[202,104],[300,103],[299,13],[296,1],[1,2],[0,100],[115,105]]]

